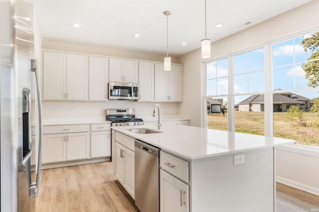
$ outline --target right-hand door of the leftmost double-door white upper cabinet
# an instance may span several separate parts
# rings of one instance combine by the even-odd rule
[[[88,99],[88,57],[82,55],[66,56],[66,99]]]

